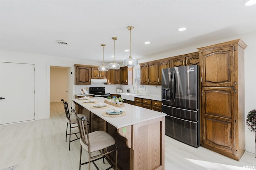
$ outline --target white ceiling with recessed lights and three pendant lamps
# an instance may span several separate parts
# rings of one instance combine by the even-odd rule
[[[256,31],[244,0],[0,0],[0,49],[112,62]],[[179,32],[178,28],[187,30]],[[69,45],[60,45],[63,40]],[[146,45],[144,42],[150,41]]]

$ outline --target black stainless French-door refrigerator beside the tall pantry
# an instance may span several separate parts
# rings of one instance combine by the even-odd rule
[[[162,69],[162,112],[167,136],[200,146],[198,65]]]

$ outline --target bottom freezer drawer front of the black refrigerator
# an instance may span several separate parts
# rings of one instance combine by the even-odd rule
[[[198,147],[198,122],[187,121],[167,115],[165,117],[165,134],[176,140]]]

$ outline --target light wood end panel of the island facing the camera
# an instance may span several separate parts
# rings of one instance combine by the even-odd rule
[[[164,118],[134,125],[130,170],[164,170]]]

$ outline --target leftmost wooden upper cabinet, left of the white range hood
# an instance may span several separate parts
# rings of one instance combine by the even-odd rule
[[[92,68],[86,65],[75,64],[75,84],[91,84]]]

